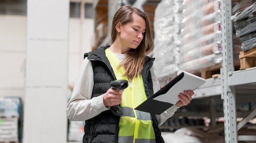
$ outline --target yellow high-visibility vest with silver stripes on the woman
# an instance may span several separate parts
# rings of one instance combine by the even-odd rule
[[[114,70],[117,80],[128,78],[124,75],[124,68],[117,67],[120,65],[118,58],[108,48],[105,50],[106,56],[110,61],[110,65]],[[146,98],[144,83],[141,74],[132,78],[122,95],[120,104],[123,115],[119,121],[118,142],[119,143],[155,143],[155,132],[153,129],[153,121],[150,113],[134,110],[144,102]]]

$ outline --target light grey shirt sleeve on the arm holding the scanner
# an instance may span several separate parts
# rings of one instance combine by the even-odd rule
[[[103,104],[103,95],[92,98],[93,75],[92,63],[85,58],[79,70],[71,98],[67,103],[67,118],[71,121],[88,120],[109,110]]]

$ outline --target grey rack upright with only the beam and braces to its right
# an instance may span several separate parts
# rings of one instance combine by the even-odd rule
[[[237,124],[236,89],[242,84],[256,83],[256,69],[234,72],[233,63],[233,30],[232,30],[232,0],[221,0],[221,35],[222,35],[222,68],[221,68],[221,98],[223,99],[225,142],[256,141],[256,136],[238,136],[238,130],[249,119],[254,117],[253,110]]]

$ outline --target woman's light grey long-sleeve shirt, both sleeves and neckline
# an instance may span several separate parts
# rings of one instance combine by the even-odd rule
[[[116,53],[115,53],[116,54]],[[116,54],[119,61],[124,59],[124,54]],[[160,89],[159,81],[154,70],[150,69],[154,93]],[[71,98],[67,103],[67,118],[71,121],[85,121],[99,115],[101,112],[109,110],[103,104],[103,95],[92,98],[94,85],[92,63],[87,58],[84,59],[79,76],[76,80]],[[172,117],[178,106],[171,106],[164,113],[156,115],[159,126],[168,118]]]

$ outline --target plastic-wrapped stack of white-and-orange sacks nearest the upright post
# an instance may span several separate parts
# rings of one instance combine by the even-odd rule
[[[180,69],[191,72],[220,63],[220,0],[186,0],[183,16]]]

